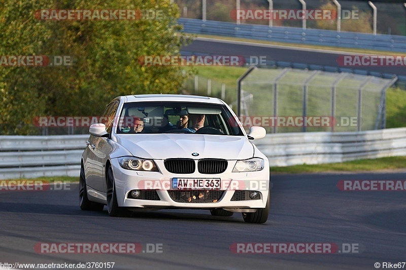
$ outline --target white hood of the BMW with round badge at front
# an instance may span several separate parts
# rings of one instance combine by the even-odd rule
[[[205,134],[128,134],[116,137],[134,157],[144,159],[226,159],[252,158],[254,147],[244,136]],[[193,157],[192,153],[199,155]]]

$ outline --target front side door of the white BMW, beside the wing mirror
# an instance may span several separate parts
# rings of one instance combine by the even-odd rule
[[[118,109],[119,102],[113,102],[113,106],[109,113],[107,114],[107,120],[104,123],[106,125],[106,131],[111,135],[114,120],[116,119],[116,113]],[[97,175],[95,181],[97,182],[97,187],[100,191],[106,192],[106,162],[109,158],[110,153],[113,151],[111,145],[112,140],[109,138],[97,137],[94,144],[94,158],[95,165],[97,166]]]

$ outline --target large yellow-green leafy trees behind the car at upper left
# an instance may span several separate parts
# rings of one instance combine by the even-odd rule
[[[162,10],[157,20],[38,20],[40,9]],[[114,97],[179,93],[187,73],[142,66],[145,55],[179,55],[188,38],[170,0],[0,0],[0,56],[69,56],[66,66],[0,66],[0,134],[33,134],[43,115],[98,115]]]

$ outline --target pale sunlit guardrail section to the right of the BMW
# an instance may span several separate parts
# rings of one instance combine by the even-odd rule
[[[255,145],[276,167],[404,156],[406,128],[268,134]]]

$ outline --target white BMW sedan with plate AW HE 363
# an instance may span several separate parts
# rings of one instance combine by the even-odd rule
[[[264,223],[269,213],[269,163],[230,107],[218,98],[132,95],[113,99],[82,155],[82,210],[129,216],[137,210],[240,212]]]

